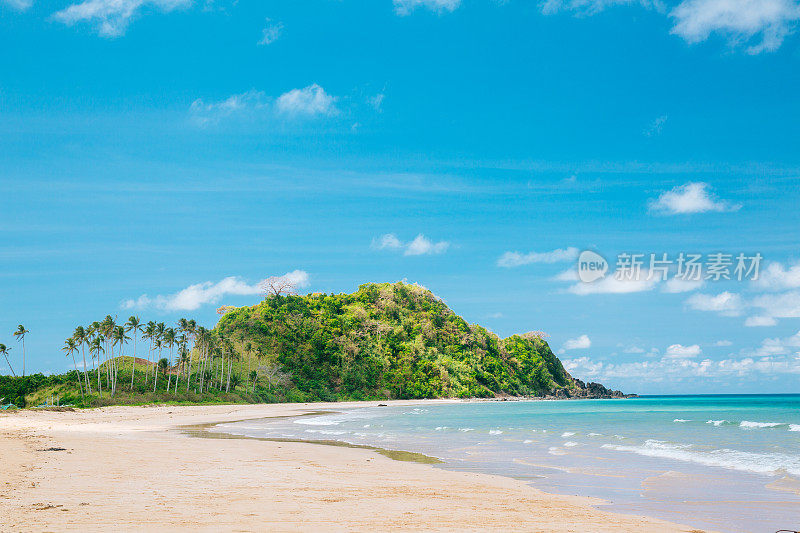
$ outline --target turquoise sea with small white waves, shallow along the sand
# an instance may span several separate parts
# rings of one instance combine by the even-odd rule
[[[800,529],[800,395],[332,411],[219,430],[420,452],[442,459],[443,468],[512,476],[698,528]]]

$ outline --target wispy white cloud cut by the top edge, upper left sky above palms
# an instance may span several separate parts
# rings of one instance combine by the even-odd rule
[[[16,0],[19,2],[19,0]],[[163,12],[192,5],[193,0],[85,0],[72,4],[53,14],[53,19],[67,25],[93,24],[104,37],[118,37],[125,33],[131,20],[147,9]]]

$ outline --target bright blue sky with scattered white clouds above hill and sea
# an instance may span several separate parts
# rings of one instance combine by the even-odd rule
[[[800,378],[796,0],[0,0],[0,342],[407,279],[576,377]],[[582,284],[580,250],[763,256]],[[511,255],[509,255],[511,254]],[[509,257],[511,259],[509,259]],[[676,292],[680,291],[680,292]],[[0,372],[8,372],[0,362]]]

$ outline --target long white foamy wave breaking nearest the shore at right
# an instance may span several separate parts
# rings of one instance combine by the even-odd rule
[[[697,451],[690,444],[673,444],[653,439],[645,441],[641,446],[604,444],[603,448],[754,474],[800,475],[800,457],[782,453],[751,453],[727,448],[706,452]]]

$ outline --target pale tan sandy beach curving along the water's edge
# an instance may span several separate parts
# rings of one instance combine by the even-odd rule
[[[186,430],[359,405],[375,403],[0,414],[0,530],[693,531],[371,450]]]

